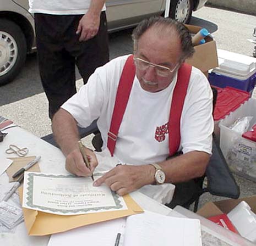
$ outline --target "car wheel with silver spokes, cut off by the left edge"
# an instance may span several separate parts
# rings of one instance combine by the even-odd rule
[[[12,81],[26,60],[26,38],[13,21],[0,19],[0,85]]]

